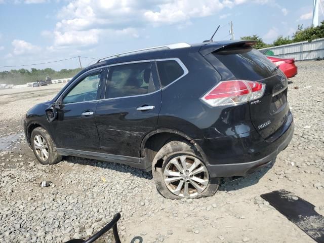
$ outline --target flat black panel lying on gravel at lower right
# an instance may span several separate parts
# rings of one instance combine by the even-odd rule
[[[324,217],[315,212],[314,205],[286,190],[272,191],[261,197],[316,242],[324,243]]]

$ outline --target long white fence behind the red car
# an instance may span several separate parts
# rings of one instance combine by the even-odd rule
[[[273,51],[274,56],[281,58],[295,58],[296,61],[324,58],[324,38],[314,39],[312,42],[297,42],[260,50],[266,49]]]

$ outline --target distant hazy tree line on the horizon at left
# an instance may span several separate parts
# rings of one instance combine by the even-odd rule
[[[61,69],[60,71],[55,71],[52,68],[31,68],[31,70],[24,68],[18,70],[13,69],[10,71],[0,72],[0,84],[24,85],[26,83],[36,82],[37,80],[45,80],[47,76],[51,77],[52,79],[73,77],[81,70],[81,68]]]

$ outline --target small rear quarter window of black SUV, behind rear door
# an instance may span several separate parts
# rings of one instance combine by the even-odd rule
[[[162,88],[171,84],[184,74],[184,70],[175,60],[157,61],[156,65]]]

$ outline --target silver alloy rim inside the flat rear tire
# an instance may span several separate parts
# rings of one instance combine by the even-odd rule
[[[173,157],[164,170],[168,189],[181,197],[193,197],[203,192],[209,182],[209,173],[200,159],[180,155]]]

